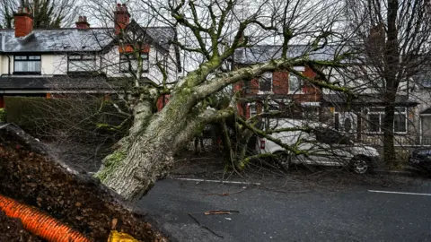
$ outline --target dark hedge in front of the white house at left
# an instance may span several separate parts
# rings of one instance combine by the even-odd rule
[[[7,97],[5,103],[7,122],[44,139],[62,137],[97,142],[101,138],[122,135],[128,129],[127,125],[117,127],[126,117],[119,115],[112,103],[96,97]]]

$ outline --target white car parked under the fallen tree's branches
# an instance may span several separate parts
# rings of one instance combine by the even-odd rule
[[[263,128],[272,137],[306,154],[295,155],[265,138],[258,138],[258,153],[277,155],[277,164],[288,169],[291,164],[347,167],[357,174],[371,173],[378,165],[379,152],[328,125],[297,119],[270,119]],[[299,130],[301,129],[301,130]]]

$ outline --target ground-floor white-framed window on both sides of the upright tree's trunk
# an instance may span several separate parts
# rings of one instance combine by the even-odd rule
[[[383,132],[384,108],[368,108],[368,132]],[[407,133],[407,108],[395,108],[393,118],[393,132]]]

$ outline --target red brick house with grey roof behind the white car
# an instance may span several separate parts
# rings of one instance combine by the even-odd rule
[[[288,56],[303,56],[308,46],[290,46]],[[233,69],[247,65],[267,62],[279,58],[281,46],[254,46],[237,49],[233,56]],[[328,46],[319,51],[309,53],[316,60],[328,60],[333,48]],[[309,66],[295,66],[295,70],[303,75],[314,78],[316,73]],[[238,108],[244,117],[260,113],[262,108],[280,110],[283,117],[310,117],[320,119],[322,91],[312,83],[299,76],[284,71],[264,73],[250,82],[238,82],[233,91],[242,91],[242,101]]]

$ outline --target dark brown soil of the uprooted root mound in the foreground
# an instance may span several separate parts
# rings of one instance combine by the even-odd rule
[[[145,212],[83,170],[67,167],[13,125],[0,128],[0,184],[0,194],[38,207],[95,241],[107,241],[111,229],[141,241],[168,240]]]

